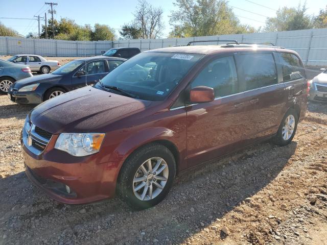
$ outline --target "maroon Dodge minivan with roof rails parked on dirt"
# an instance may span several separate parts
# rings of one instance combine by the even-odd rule
[[[273,138],[294,137],[308,83],[298,54],[225,44],[138,54],[93,87],[35,107],[21,133],[26,174],[51,198],[165,198],[176,175]]]

